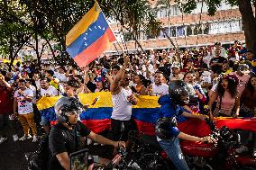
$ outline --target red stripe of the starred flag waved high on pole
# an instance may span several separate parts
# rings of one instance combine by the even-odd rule
[[[93,60],[98,58],[105,49],[115,40],[114,34],[110,28],[105,31],[98,40],[91,44],[87,49],[83,50],[74,58],[79,67],[86,67]]]

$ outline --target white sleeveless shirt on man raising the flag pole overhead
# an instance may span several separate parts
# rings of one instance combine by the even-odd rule
[[[129,121],[132,116],[132,103],[127,99],[132,95],[131,89],[124,89],[121,87],[119,94],[112,95],[113,112],[111,118],[118,121]]]

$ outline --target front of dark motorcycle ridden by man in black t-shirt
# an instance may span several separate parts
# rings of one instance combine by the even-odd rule
[[[118,154],[105,169],[122,170],[169,170],[169,162],[160,156],[159,148],[153,148],[145,143],[136,131],[129,133],[129,141],[132,142],[127,149],[119,148]]]

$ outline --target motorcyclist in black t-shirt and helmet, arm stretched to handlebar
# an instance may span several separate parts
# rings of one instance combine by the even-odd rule
[[[78,121],[79,113],[83,105],[74,97],[61,97],[54,106],[58,124],[50,130],[49,147],[52,157],[50,158],[49,170],[69,170],[69,154],[81,148],[80,137],[87,137],[93,141],[112,145],[114,147],[125,147],[123,141],[113,141],[97,135]]]

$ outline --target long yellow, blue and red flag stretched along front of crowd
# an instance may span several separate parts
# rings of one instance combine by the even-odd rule
[[[79,94],[80,101],[84,104],[93,103],[96,97],[99,100],[95,105],[90,105],[87,111],[80,114],[80,120],[87,125],[87,128],[98,133],[110,129],[110,117],[112,113],[112,98],[109,92],[98,92],[91,94]],[[58,97],[42,97],[37,103],[41,115],[47,120],[54,123],[56,116],[54,104]],[[147,135],[154,135],[155,123],[159,118],[160,105],[158,97],[142,95],[138,97],[137,105],[133,105],[132,117],[137,124],[140,132]],[[231,129],[256,131],[256,120],[251,119],[233,119],[233,118],[216,118],[216,126],[221,128],[227,126]],[[178,124],[178,129],[198,137],[204,137],[209,134],[209,128],[205,121],[198,119],[189,119]]]

